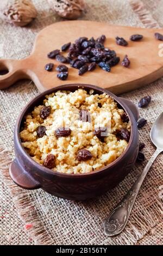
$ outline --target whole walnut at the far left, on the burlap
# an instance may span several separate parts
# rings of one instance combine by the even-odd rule
[[[4,19],[15,26],[26,26],[36,16],[37,11],[30,0],[12,0],[2,9]]]

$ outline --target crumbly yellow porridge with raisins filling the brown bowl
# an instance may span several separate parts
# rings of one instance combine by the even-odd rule
[[[33,160],[54,172],[89,173],[121,156],[130,122],[105,93],[62,90],[26,116],[20,137]]]

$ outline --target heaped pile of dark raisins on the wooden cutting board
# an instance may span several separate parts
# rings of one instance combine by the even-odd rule
[[[105,35],[97,39],[83,36],[78,38],[73,44],[68,42],[61,46],[61,52],[67,51],[67,56],[63,56],[60,50],[54,50],[47,54],[48,58],[55,58],[60,63],[68,63],[72,68],[78,69],[78,75],[82,76],[87,71],[93,71],[97,65],[102,70],[110,72],[111,67],[120,62],[120,57],[116,52],[105,48]],[[123,44],[125,44],[123,42]],[[47,64],[48,65],[48,64]],[[64,67],[63,67],[64,66]],[[68,77],[68,68],[65,65],[59,65],[56,69],[60,72],[57,77],[60,80],[66,80]]]

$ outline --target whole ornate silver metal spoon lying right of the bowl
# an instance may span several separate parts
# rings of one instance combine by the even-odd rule
[[[130,212],[133,208],[137,193],[140,190],[143,180],[152,166],[152,163],[156,157],[163,151],[163,112],[155,120],[150,133],[151,141],[156,147],[156,151],[143,169],[141,175],[136,180],[133,187],[124,196],[122,201],[116,206],[116,208],[110,213],[109,217],[104,221],[105,235],[114,236],[122,232],[128,222]]]

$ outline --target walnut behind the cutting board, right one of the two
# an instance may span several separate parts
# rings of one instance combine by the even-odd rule
[[[68,20],[78,19],[85,10],[84,0],[48,0],[56,13]]]

